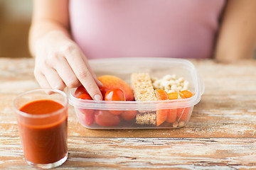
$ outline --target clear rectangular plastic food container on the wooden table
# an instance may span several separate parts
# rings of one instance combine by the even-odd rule
[[[137,57],[137,58],[112,58],[90,60],[90,65],[97,77],[110,74],[130,84],[131,74],[146,72],[151,77],[164,77],[166,74],[176,74],[189,82],[189,90],[194,94],[191,98],[168,101],[90,101],[75,98],[76,89],[68,89],[69,103],[74,106],[75,113],[80,123],[90,129],[156,129],[156,128],[182,128],[185,126],[195,106],[204,91],[202,79],[198,76],[196,68],[188,60],[162,58],[162,57]],[[135,114],[132,120],[124,120],[121,115],[114,118],[108,114],[120,111],[124,114]],[[167,111],[176,116],[175,121],[165,121],[156,125],[156,113]],[[96,123],[96,117],[101,114],[103,123]],[[104,122],[105,121],[105,122]]]

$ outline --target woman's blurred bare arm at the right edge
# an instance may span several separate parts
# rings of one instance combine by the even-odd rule
[[[252,58],[256,47],[256,1],[228,0],[215,48],[220,62]]]

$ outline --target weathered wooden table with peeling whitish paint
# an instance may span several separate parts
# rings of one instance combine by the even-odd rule
[[[88,130],[69,106],[68,161],[58,169],[256,169],[256,61],[191,60],[206,85],[188,125]],[[0,168],[23,160],[13,100],[38,88],[33,59],[0,58]]]

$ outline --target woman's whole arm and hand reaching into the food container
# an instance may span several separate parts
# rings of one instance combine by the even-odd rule
[[[36,80],[42,88],[60,90],[82,84],[92,98],[102,100],[100,81],[70,38],[68,16],[68,0],[34,0],[29,47]]]

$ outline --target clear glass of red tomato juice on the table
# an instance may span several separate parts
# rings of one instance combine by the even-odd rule
[[[50,169],[68,159],[68,97],[63,91],[36,89],[14,100],[26,162]]]

